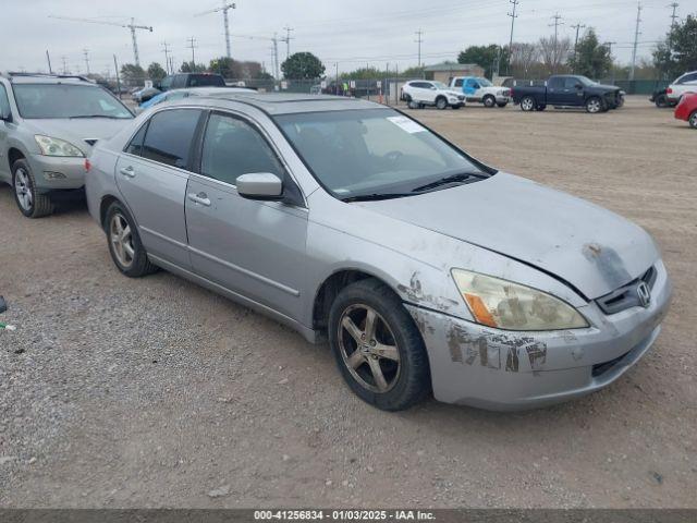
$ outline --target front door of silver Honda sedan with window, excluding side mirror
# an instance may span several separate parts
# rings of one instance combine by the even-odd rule
[[[192,174],[186,191],[192,266],[204,278],[298,319],[307,210],[240,196],[237,177],[254,172],[277,174],[286,191],[294,184],[259,127],[240,115],[211,113],[199,174]]]

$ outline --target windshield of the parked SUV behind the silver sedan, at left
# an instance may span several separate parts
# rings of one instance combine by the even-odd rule
[[[22,118],[126,119],[133,114],[101,87],[66,84],[15,84],[12,86]]]

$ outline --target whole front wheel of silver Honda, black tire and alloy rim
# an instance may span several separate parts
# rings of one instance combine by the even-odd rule
[[[396,294],[374,278],[339,293],[329,342],[344,380],[366,403],[401,411],[430,391],[424,340]]]

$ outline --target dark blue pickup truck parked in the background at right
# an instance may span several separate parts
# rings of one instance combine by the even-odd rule
[[[545,85],[513,87],[513,104],[524,111],[543,111],[547,106],[585,107],[591,113],[622,107],[620,87],[601,85],[580,75],[550,76]]]

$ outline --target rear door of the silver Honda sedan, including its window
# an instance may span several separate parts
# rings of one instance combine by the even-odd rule
[[[149,254],[191,268],[184,199],[198,109],[168,109],[152,115],[132,138],[117,163],[117,185],[124,196]]]

